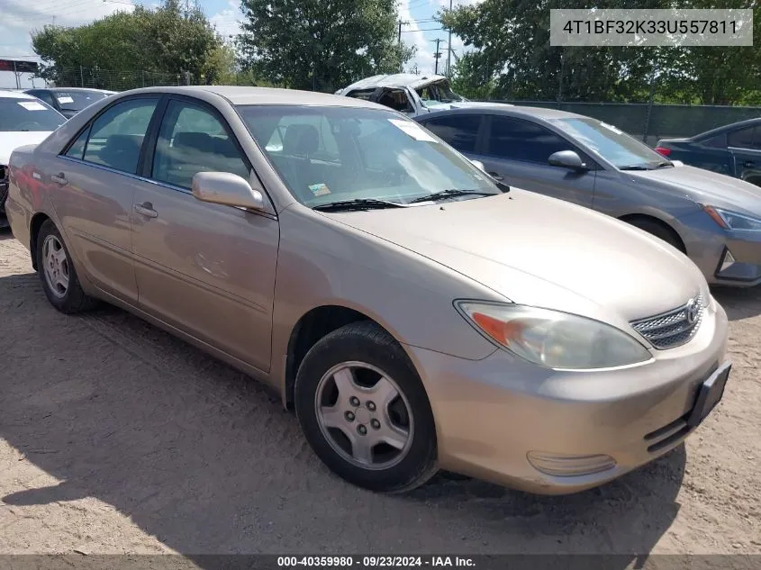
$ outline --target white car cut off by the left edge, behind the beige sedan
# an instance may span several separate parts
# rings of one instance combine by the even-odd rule
[[[0,228],[5,228],[8,159],[18,147],[39,144],[66,122],[66,117],[32,95],[0,90]]]

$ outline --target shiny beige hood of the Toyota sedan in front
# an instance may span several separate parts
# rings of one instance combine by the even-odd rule
[[[665,242],[601,213],[515,188],[458,202],[325,215],[514,303],[604,318],[622,328],[708,293],[698,267]]]

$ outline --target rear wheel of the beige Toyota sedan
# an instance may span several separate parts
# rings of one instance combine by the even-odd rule
[[[67,314],[94,308],[97,300],[85,294],[77,271],[56,225],[44,222],[37,236],[37,273],[48,301]]]

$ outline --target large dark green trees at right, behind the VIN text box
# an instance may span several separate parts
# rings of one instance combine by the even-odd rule
[[[606,0],[597,8],[754,8],[754,0]],[[504,99],[645,101],[685,104],[761,102],[761,43],[752,47],[559,48],[549,45],[552,8],[589,8],[580,0],[485,0],[439,14],[472,49],[455,68],[460,93]],[[653,81],[655,83],[653,84]],[[655,93],[651,89],[655,88]],[[475,95],[473,95],[475,96]]]

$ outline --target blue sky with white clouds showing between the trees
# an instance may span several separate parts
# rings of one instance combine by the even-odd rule
[[[476,4],[481,0],[453,0],[455,6]],[[0,0],[0,59],[35,59],[30,34],[45,24],[76,26],[92,22],[118,10],[132,10],[133,4],[155,5],[155,0]],[[222,35],[236,34],[241,17],[238,0],[201,0],[204,12]],[[400,0],[399,14],[403,21],[402,40],[418,48],[417,55],[408,67],[417,64],[421,74],[433,73],[435,40],[442,42],[439,50],[439,73],[443,72],[447,60],[447,32],[440,30],[433,16],[442,7],[448,7],[449,0]],[[452,47],[457,54],[463,50],[457,37],[452,39]],[[454,63],[454,59],[453,59]],[[41,86],[41,79],[35,80]],[[0,88],[15,87],[13,73],[0,71]],[[32,87],[32,77],[21,77],[24,89]]]

